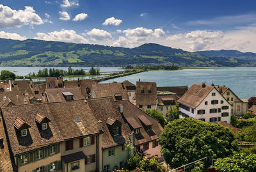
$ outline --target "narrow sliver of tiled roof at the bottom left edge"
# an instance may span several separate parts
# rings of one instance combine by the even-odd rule
[[[3,148],[0,149],[0,171],[17,171],[14,159],[10,154],[2,118],[0,119],[0,138],[3,138]]]

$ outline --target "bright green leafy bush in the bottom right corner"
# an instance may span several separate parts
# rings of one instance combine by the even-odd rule
[[[221,172],[251,172],[256,171],[256,155],[246,153],[235,153],[232,157],[217,159],[214,166]]]

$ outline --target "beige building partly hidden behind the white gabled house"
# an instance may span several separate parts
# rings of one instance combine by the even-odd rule
[[[218,91],[226,98],[226,100],[232,105],[231,114],[236,116],[243,116],[248,111],[248,100],[239,98],[237,95],[225,86],[218,86]]]

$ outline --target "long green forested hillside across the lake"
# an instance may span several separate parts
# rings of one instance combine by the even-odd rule
[[[213,56],[156,43],[133,49],[28,39],[0,39],[1,66],[255,66],[256,56]],[[253,54],[253,53],[252,53]]]

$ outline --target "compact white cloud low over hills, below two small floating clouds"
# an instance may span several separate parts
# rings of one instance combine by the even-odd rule
[[[87,32],[87,35],[89,35],[93,41],[112,40],[112,36],[110,35],[110,33],[102,29],[93,28],[91,31]]]

